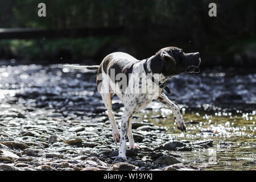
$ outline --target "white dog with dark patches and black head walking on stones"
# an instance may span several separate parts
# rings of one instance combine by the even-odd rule
[[[74,69],[98,69],[96,80],[98,92],[101,93],[102,100],[108,110],[114,142],[117,143],[120,140],[118,156],[115,160],[124,161],[127,160],[126,137],[129,140],[130,148],[139,150],[139,146],[134,142],[131,132],[131,119],[137,111],[146,107],[152,100],[159,101],[169,107],[174,113],[177,129],[186,131],[179,107],[168,99],[163,90],[165,89],[167,92],[170,92],[170,89],[165,85],[166,81],[179,73],[195,72],[199,68],[200,63],[199,52],[185,53],[183,49],[178,47],[166,47],[144,60],[137,60],[127,53],[114,52],[106,56],[100,65],[64,66]],[[115,72],[115,75],[119,73],[125,75],[127,77],[126,84],[120,85],[119,80],[111,76],[112,71]],[[139,81],[132,82],[133,78],[135,80],[137,78]],[[152,85],[154,85],[154,88]],[[135,87],[143,88],[146,92],[134,93],[132,89]],[[112,110],[114,94],[117,94],[124,105],[120,134]]]

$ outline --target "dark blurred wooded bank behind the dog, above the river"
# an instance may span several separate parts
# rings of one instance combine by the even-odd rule
[[[38,16],[40,2],[46,3],[46,17]],[[211,2],[217,4],[217,17],[208,15]],[[145,59],[176,46],[200,52],[201,67],[253,68],[255,5],[238,0],[0,0],[0,28],[53,31],[36,38],[0,34],[0,57],[28,64],[99,64],[114,51]]]

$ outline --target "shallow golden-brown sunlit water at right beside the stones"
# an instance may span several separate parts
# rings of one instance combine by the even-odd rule
[[[256,136],[255,111],[251,113],[190,112],[183,110],[187,132],[176,129],[171,110],[144,110],[138,117],[166,127],[175,140],[197,142],[212,139],[213,147],[193,151],[176,151],[183,163],[201,170],[255,170]],[[155,118],[162,115],[160,118]]]

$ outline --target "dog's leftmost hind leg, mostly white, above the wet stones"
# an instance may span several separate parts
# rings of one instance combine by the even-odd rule
[[[119,130],[117,128],[117,122],[115,122],[115,116],[112,110],[113,93],[102,93],[101,97],[105,104],[106,109],[108,110],[109,121],[112,125],[112,135],[113,135],[114,142],[117,143],[119,141],[120,134],[119,134]]]

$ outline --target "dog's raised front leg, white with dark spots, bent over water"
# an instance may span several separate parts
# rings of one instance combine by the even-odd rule
[[[172,112],[174,113],[174,120],[177,123],[177,129],[181,131],[186,131],[186,126],[182,115],[180,114],[179,107],[176,106],[172,101],[170,101],[168,97],[163,93],[160,94],[156,100],[163,103],[172,110]]]

